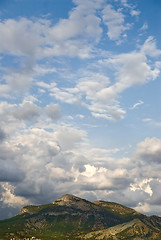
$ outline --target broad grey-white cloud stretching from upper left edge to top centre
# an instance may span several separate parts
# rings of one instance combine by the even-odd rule
[[[0,52],[27,56],[30,61],[53,55],[88,57],[91,50],[88,39],[99,39],[102,32],[101,20],[95,15],[100,4],[97,3],[97,7],[93,1],[75,1],[75,4],[69,18],[61,19],[55,25],[42,19],[1,21]],[[84,40],[83,44],[79,37]]]

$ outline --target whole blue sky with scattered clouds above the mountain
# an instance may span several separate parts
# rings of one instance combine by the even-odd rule
[[[161,1],[0,1],[0,219],[63,194],[161,216]]]

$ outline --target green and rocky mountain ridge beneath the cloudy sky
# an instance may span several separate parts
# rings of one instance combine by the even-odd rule
[[[66,194],[51,204],[26,206],[0,221],[8,239],[161,239],[161,218],[147,217],[118,203]]]

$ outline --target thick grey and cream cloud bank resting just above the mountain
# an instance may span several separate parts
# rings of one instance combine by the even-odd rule
[[[153,184],[160,179],[158,138],[138,143],[126,161],[114,157],[117,148],[92,148],[85,131],[48,122],[44,129],[32,126],[18,131],[17,127],[17,134],[2,144],[1,202],[5,207],[52,202],[66,192],[131,207],[138,202],[158,204],[157,184]]]

